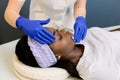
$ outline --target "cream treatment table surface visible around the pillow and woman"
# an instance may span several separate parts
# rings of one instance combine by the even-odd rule
[[[112,26],[104,28],[107,30],[120,28],[120,26]],[[13,70],[13,55],[15,54],[15,46],[19,39],[0,45],[0,80],[19,80]],[[57,80],[57,79],[56,79]],[[66,80],[80,80],[69,77]]]

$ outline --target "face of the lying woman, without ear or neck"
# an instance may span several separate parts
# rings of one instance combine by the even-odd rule
[[[65,30],[49,29],[55,35],[55,41],[50,44],[54,53],[60,53],[63,57],[70,53],[75,45],[72,39],[73,34]]]

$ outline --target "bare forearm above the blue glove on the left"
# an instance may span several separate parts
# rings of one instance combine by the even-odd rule
[[[5,20],[13,27],[15,22],[20,16],[19,12],[24,4],[25,0],[9,0],[7,8],[5,10]]]

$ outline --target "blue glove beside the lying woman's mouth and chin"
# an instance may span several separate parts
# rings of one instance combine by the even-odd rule
[[[76,18],[75,24],[74,24],[74,40],[75,42],[80,42],[81,40],[84,40],[87,33],[87,26],[86,26],[86,20],[84,17],[79,16]]]

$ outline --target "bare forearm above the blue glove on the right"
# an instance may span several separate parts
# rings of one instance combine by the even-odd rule
[[[74,18],[78,16],[86,17],[86,2],[87,0],[77,0],[74,5]]]

